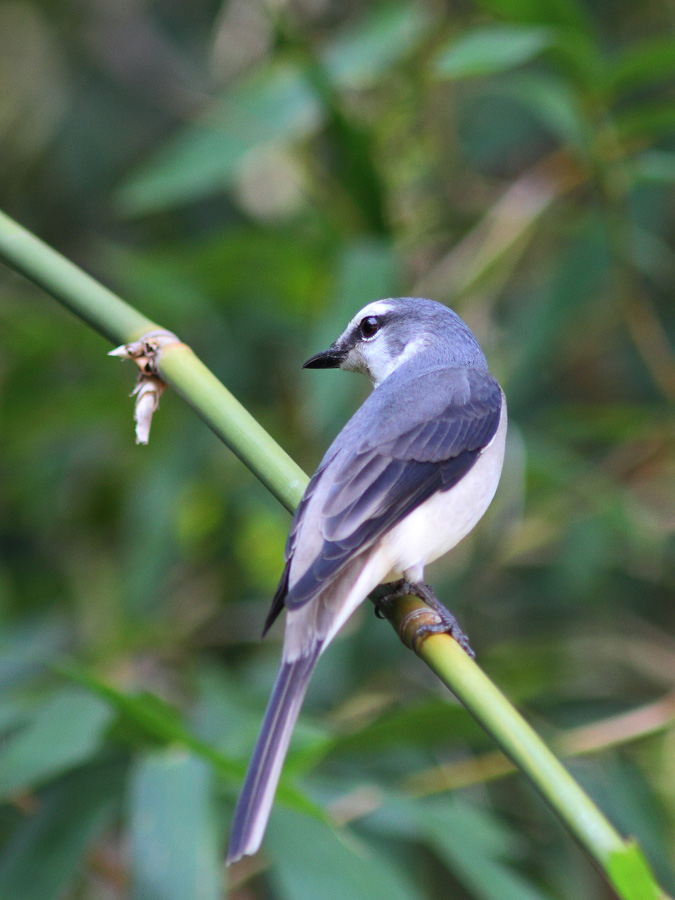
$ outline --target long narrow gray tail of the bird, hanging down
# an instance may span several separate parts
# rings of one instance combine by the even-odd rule
[[[234,812],[228,865],[255,853],[262,843],[293,728],[320,650],[317,646],[309,656],[282,662],[277,673]]]

